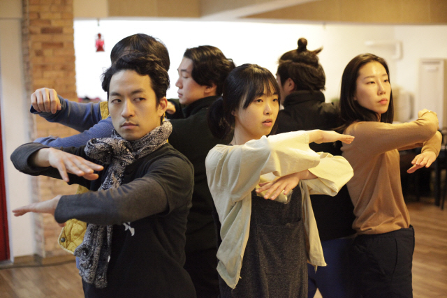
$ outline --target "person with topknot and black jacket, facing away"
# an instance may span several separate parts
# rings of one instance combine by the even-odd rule
[[[284,110],[278,114],[278,133],[333,130],[339,126],[337,105],[325,103],[325,73],[318,61],[323,50],[307,50],[306,38],[298,40],[298,48],[284,53],[279,59],[277,82]],[[342,151],[330,143],[309,144],[316,151],[341,156]],[[349,297],[349,247],[355,231],[353,204],[344,186],[335,197],[311,195],[316,225],[327,267],[315,270],[308,265],[309,298],[316,290],[324,298]]]

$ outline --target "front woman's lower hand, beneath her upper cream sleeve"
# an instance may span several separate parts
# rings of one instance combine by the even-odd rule
[[[309,172],[309,170],[288,174],[270,182],[260,183],[259,186],[261,187],[256,189],[256,193],[262,193],[263,191],[268,190],[268,192],[265,193],[264,198],[274,200],[282,191],[284,191],[284,195],[287,195],[289,191],[298,185],[300,180],[315,178],[316,176]]]

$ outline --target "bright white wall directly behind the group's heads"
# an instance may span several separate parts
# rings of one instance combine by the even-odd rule
[[[134,33],[147,33],[160,38],[170,52],[171,87],[168,98],[177,97],[177,67],[187,47],[214,45],[236,65],[259,64],[273,74],[277,59],[297,47],[297,40],[305,37],[308,49],[323,46],[320,54],[325,69],[326,98],[338,97],[344,66],[357,54],[375,52],[391,60],[393,49],[367,47],[366,40],[393,40],[393,26],[378,25],[323,25],[323,24],[268,24],[260,22],[198,22],[198,21],[118,21],[77,20],[75,27],[76,82],[78,96],[100,97],[105,100],[100,76],[110,65],[110,50],[122,38]],[[95,52],[94,40],[101,33],[105,51]],[[394,61],[390,62],[392,73]]]

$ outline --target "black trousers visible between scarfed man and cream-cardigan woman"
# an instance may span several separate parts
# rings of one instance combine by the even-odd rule
[[[216,254],[216,248],[186,253],[184,269],[191,276],[198,298],[217,298],[219,296]]]

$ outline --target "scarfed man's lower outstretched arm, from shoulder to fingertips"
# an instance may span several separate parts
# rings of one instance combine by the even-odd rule
[[[106,191],[57,196],[52,202],[29,204],[13,210],[53,214],[58,223],[70,218],[98,225],[121,224],[154,214],[168,214],[186,208],[193,188],[191,163],[182,158],[161,158],[152,163],[145,176]]]

